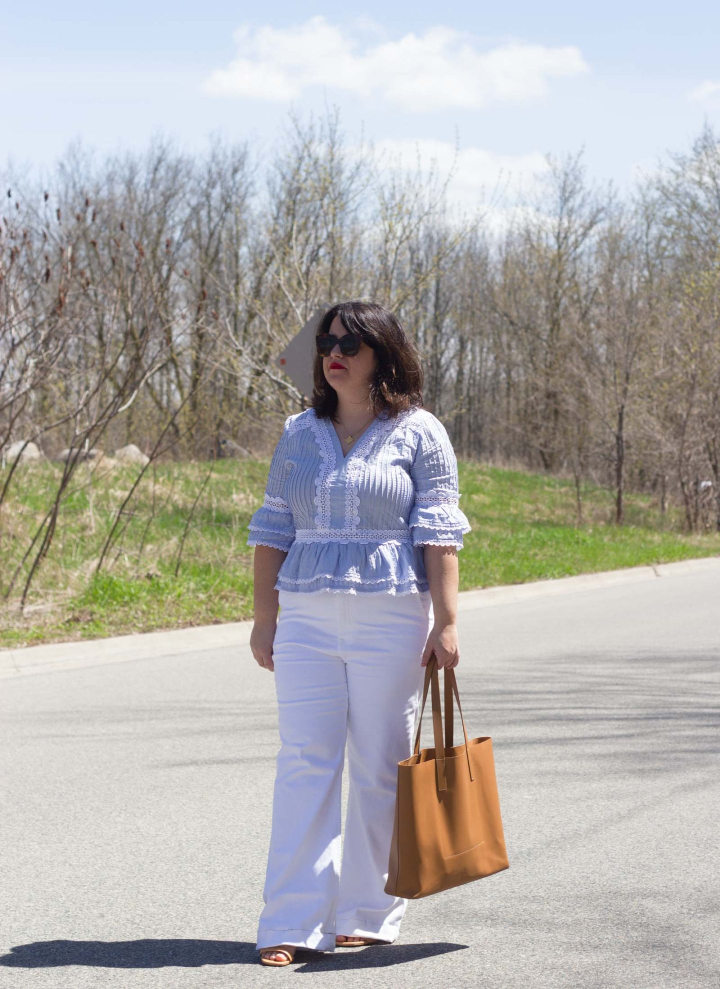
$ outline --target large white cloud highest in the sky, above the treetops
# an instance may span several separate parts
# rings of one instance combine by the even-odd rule
[[[353,27],[357,36],[377,37],[374,24]],[[547,93],[550,79],[589,71],[575,45],[511,42],[481,50],[471,34],[443,26],[363,46],[359,37],[318,16],[291,28],[243,26],[233,37],[237,57],[203,84],[211,96],[286,101],[327,86],[384,96],[414,112],[478,109],[536,99]]]

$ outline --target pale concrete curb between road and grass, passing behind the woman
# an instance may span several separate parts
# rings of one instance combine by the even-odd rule
[[[509,584],[464,590],[458,594],[458,611],[479,607],[492,607],[528,597],[546,594],[566,594],[579,590],[592,590],[612,584],[639,584],[657,578],[681,577],[699,572],[716,572],[720,598],[720,556],[700,560],[680,560],[650,567],[627,567],[622,570],[602,571],[597,574],[581,574],[556,580],[533,581],[528,584]],[[125,663],[129,660],[145,660],[161,656],[180,656],[210,649],[247,646],[250,641],[252,621],[229,622],[222,625],[202,625],[173,629],[168,632],[143,632],[136,635],[119,635],[108,639],[82,642],[60,642],[45,646],[29,646],[26,649],[0,650],[0,679],[23,674],[76,670],[80,667],[103,666],[109,663]]]

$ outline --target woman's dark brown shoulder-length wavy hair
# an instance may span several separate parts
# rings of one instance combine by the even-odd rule
[[[377,369],[370,383],[375,414],[387,411],[393,417],[422,405],[424,373],[420,356],[398,317],[379,303],[337,303],[322,315],[315,333],[329,333],[335,316],[340,317],[348,333],[362,337],[378,355]],[[337,392],[328,384],[322,372],[322,355],[316,350],[313,386],[311,406],[317,415],[332,418],[337,408]]]

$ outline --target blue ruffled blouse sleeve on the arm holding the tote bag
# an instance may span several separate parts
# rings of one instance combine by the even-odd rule
[[[407,525],[414,546],[463,548],[472,526],[459,505],[458,462],[445,426],[434,416],[418,431],[410,467],[415,496]]]

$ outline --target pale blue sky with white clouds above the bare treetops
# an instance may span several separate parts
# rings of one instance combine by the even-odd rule
[[[200,11],[202,10],[202,14]],[[150,135],[269,150],[292,107],[337,105],[361,134],[440,171],[456,137],[458,201],[498,169],[530,176],[585,146],[589,176],[628,189],[703,122],[720,131],[720,5],[13,4],[0,22],[0,165],[50,168],[80,138],[99,152]],[[416,143],[417,142],[417,143]]]

